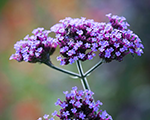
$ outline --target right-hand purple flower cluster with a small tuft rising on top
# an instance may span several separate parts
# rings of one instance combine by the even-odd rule
[[[141,56],[144,46],[140,38],[128,29],[129,24],[124,22],[126,18],[111,14],[106,16],[109,18],[109,23],[105,24],[96,38],[100,58],[110,62],[122,61],[123,57],[129,53]]]

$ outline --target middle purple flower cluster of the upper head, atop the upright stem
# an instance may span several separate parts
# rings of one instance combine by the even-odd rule
[[[64,57],[57,58],[61,61],[61,65],[72,64],[76,60],[90,60],[95,56],[93,43],[96,36],[95,29],[98,29],[96,24],[99,23],[91,19],[86,20],[84,17],[81,19],[67,17],[51,27],[51,31],[56,33],[60,54]],[[93,50],[90,50],[92,47]]]

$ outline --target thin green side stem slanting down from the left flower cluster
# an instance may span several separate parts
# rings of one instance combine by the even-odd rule
[[[63,72],[65,74],[68,74],[68,75],[71,75],[71,76],[75,76],[75,77],[78,77],[78,78],[81,78],[81,76],[77,73],[74,73],[74,72],[71,72],[71,71],[68,71],[68,70],[65,70],[65,69],[62,69],[62,68],[59,68],[59,67],[56,67],[54,66],[51,62],[45,62],[44,64],[46,64],[47,66],[57,70],[57,71],[60,71],[60,72]]]

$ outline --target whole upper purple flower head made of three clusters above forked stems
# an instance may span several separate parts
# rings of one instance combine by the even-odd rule
[[[27,35],[14,45],[16,53],[10,59],[43,62],[54,52],[57,44],[62,55],[57,60],[61,65],[72,64],[76,60],[91,60],[96,51],[106,62],[122,61],[129,53],[141,56],[144,46],[140,38],[128,29],[126,19],[111,14],[106,16],[109,18],[108,23],[84,17],[67,17],[52,26],[50,31],[37,28],[32,32],[34,35]],[[50,32],[56,33],[56,39],[48,37]]]

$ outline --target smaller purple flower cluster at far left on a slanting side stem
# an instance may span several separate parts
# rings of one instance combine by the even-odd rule
[[[27,35],[24,40],[20,40],[14,45],[16,53],[11,55],[10,60],[31,63],[49,60],[49,56],[57,47],[56,40],[48,37],[50,31],[44,30],[44,28],[34,29],[32,33],[33,35]]]

